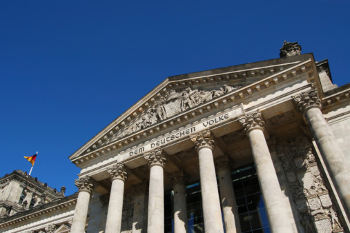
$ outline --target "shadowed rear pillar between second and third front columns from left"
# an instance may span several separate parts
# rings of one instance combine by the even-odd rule
[[[145,200],[146,183],[137,185],[133,190],[134,210],[133,210],[133,233],[146,232],[145,227]]]

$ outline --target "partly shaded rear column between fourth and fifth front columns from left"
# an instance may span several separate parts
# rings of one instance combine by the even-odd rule
[[[219,179],[222,213],[224,215],[226,233],[241,232],[240,216],[238,216],[235,192],[233,192],[229,156],[224,155],[217,158],[215,160],[215,168]]]

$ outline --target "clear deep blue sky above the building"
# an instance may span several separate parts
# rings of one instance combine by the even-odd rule
[[[236,3],[237,2],[237,3]],[[77,191],[68,156],[168,76],[279,57],[349,82],[349,1],[0,1],[0,176]]]

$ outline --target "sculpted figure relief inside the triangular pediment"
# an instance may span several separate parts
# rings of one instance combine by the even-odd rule
[[[236,85],[235,87],[224,85],[219,90],[211,91],[192,90],[191,88],[186,88],[185,90],[182,90],[182,92],[170,90],[164,97],[155,101],[154,105],[146,110],[141,119],[130,123],[130,125],[126,125],[118,134],[113,136],[110,141],[121,139],[124,136],[128,136],[129,134],[147,128],[150,125],[164,121],[169,117],[173,117],[180,112],[194,108],[197,105],[206,103],[217,97],[221,97],[222,95],[237,90],[240,87],[241,85]]]

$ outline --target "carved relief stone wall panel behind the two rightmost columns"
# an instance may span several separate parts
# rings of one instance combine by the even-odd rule
[[[289,182],[295,207],[305,232],[342,232],[313,148],[306,137],[296,143],[278,146],[278,155]]]

